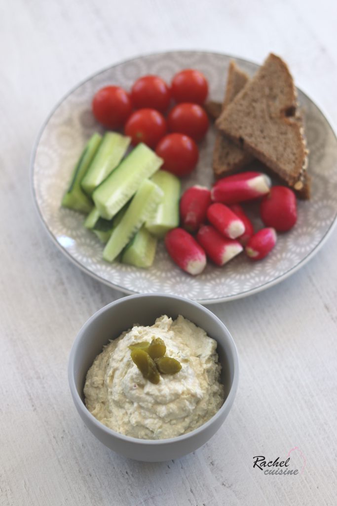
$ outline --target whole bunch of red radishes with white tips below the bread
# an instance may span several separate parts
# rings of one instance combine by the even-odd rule
[[[259,198],[265,228],[255,232],[240,203]],[[180,228],[166,234],[165,245],[181,269],[196,275],[207,258],[218,266],[242,251],[253,261],[265,258],[276,244],[276,231],[290,230],[296,221],[296,196],[290,188],[270,188],[264,174],[244,172],[222,178],[211,190],[188,188],[180,199]]]

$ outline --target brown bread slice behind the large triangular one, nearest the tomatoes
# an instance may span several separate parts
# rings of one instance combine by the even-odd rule
[[[222,110],[233,101],[249,80],[246,72],[240,70],[233,60],[228,67],[227,85],[222,103]],[[215,113],[215,106],[213,113]],[[222,178],[238,171],[252,161],[253,156],[227,139],[221,132],[217,133],[213,151],[213,172],[215,178]]]

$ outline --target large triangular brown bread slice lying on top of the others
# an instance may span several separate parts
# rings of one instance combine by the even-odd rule
[[[287,65],[270,54],[216,120],[219,130],[303,190],[307,149],[297,114],[297,94]]]

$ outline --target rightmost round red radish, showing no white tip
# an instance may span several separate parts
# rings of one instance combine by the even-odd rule
[[[273,186],[260,205],[260,214],[267,227],[286,232],[297,222],[296,196],[285,186]]]

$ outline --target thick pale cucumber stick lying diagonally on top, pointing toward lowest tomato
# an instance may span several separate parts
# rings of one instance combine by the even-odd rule
[[[102,218],[110,220],[162,163],[152,149],[138,144],[92,194]]]

